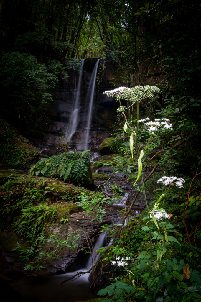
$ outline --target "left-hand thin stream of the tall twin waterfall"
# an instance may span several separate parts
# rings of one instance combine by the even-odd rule
[[[69,122],[69,126],[67,127],[66,132],[68,133],[68,137],[66,139],[66,142],[69,142],[71,137],[76,131],[78,121],[79,121],[79,110],[80,110],[80,95],[81,95],[81,80],[82,80],[82,72],[83,72],[83,66],[84,66],[85,59],[81,59],[81,71],[78,78],[78,87],[77,87],[77,93],[75,97],[75,103],[72,108],[71,118]]]

